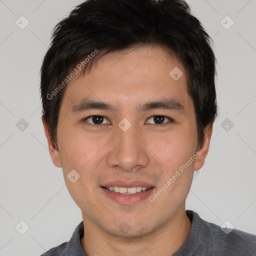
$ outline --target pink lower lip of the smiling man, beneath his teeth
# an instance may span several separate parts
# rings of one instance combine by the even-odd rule
[[[152,193],[152,191],[154,190],[154,187],[151,187],[148,190],[141,191],[141,192],[134,193],[134,194],[116,193],[116,192],[110,191],[104,187],[101,187],[101,189],[112,200],[119,202],[121,204],[124,204],[124,205],[132,205],[132,204],[142,201],[145,198],[148,198],[150,196],[150,194]]]

